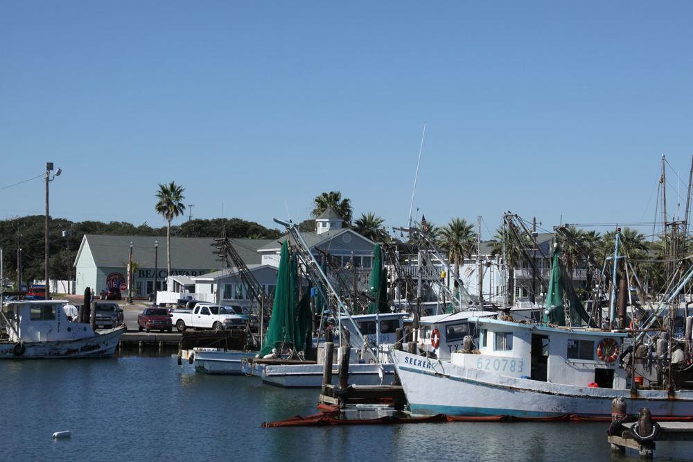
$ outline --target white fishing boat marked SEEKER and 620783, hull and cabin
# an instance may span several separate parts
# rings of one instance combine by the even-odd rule
[[[693,416],[693,391],[638,389],[620,363],[626,334],[471,318],[478,350],[439,361],[391,351],[410,410],[453,416],[610,416],[616,397],[653,416]]]

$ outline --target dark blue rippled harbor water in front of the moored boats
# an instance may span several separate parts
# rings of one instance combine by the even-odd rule
[[[0,460],[606,460],[605,423],[261,428],[316,413],[317,390],[195,373],[175,357],[0,362]],[[55,431],[71,438],[52,440]],[[657,443],[660,460],[693,459]],[[690,456],[688,455],[690,454]],[[613,456],[638,460],[638,454]],[[689,460],[690,460],[689,459]]]

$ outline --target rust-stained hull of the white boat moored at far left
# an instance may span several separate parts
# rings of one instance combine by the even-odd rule
[[[0,359],[109,357],[115,353],[124,332],[125,327],[121,326],[86,339],[24,342],[23,348],[18,348],[17,343],[0,343]],[[21,354],[17,354],[19,351]]]

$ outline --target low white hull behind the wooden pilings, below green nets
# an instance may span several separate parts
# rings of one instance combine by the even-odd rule
[[[394,381],[394,366],[383,364],[382,384],[389,385]],[[377,364],[349,364],[350,385],[380,385],[380,374]],[[259,364],[245,363],[244,373],[260,377],[265,384],[284,388],[320,388],[322,387],[322,364]],[[337,385],[339,371],[332,371],[332,384]]]

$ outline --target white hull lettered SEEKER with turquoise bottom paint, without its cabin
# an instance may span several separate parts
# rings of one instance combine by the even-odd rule
[[[693,391],[590,388],[507,377],[449,362],[394,351],[391,353],[412,413],[519,418],[611,416],[611,402],[626,400],[626,409],[641,407],[653,416],[693,416]]]

